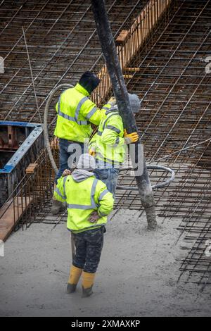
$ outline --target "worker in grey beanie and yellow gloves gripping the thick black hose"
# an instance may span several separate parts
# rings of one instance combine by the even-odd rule
[[[129,102],[133,113],[138,113],[140,109],[139,97],[136,94],[129,94]],[[115,99],[113,99],[114,103]],[[101,120],[98,132],[91,139],[89,154],[95,156],[97,165],[94,173],[96,178],[106,184],[114,198],[117,177],[120,172],[120,165],[124,161],[127,145],[137,142],[138,139],[137,132],[127,134],[124,130],[117,105],[111,106],[106,111],[106,118]]]

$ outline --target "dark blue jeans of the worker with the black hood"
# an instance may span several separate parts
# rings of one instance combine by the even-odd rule
[[[72,151],[68,152],[69,146],[72,145]],[[78,147],[78,148],[77,148]],[[71,148],[71,147],[70,147]],[[77,153],[76,153],[77,148]],[[75,154],[79,157],[84,153],[84,143],[82,142],[70,142],[70,140],[59,139],[59,169],[55,178],[55,183],[57,184],[58,178],[61,177],[65,169],[70,169],[68,167],[68,158]],[[76,157],[72,158],[72,161],[78,161]]]

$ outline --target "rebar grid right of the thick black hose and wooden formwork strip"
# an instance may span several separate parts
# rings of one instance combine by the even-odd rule
[[[136,70],[125,72],[132,76],[129,92],[143,99],[136,122],[148,163],[176,172],[177,180],[155,192],[155,201],[159,216],[179,218],[184,241],[193,242],[181,261],[180,278],[202,289],[211,273],[211,254],[205,255],[211,237],[211,74],[205,70],[210,28],[211,1],[177,1],[169,23],[158,27],[129,65]],[[152,173],[151,180],[163,178]],[[125,176],[120,185],[126,182],[132,185],[134,179]],[[117,206],[141,208],[134,192],[117,192],[117,198]]]

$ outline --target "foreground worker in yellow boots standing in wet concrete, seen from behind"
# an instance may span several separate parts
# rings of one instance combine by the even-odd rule
[[[113,211],[113,195],[97,180],[95,159],[82,154],[70,175],[65,170],[58,179],[54,198],[68,205],[68,230],[75,242],[75,257],[70,268],[67,292],[75,292],[82,275],[82,296],[90,296],[103,248],[103,233],[108,214]]]

